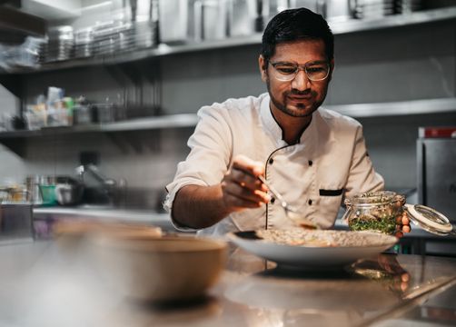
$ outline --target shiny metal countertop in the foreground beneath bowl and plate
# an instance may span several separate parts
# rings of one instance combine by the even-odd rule
[[[392,325],[398,315],[408,325],[455,322],[419,310],[432,302],[435,312],[454,312],[454,301],[433,299],[454,294],[455,259],[382,254],[359,273],[287,272],[232,246],[206,297],[160,305],[119,297],[83,259],[54,242],[0,246],[0,325],[344,327]],[[407,312],[417,310],[411,321]]]

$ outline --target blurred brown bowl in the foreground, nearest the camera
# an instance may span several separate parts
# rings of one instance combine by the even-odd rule
[[[94,243],[101,277],[136,300],[200,297],[218,281],[226,262],[226,243],[208,238],[102,233]]]

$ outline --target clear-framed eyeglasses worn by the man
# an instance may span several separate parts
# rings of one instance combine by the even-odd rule
[[[292,81],[300,70],[303,70],[311,81],[322,81],[330,74],[330,65],[328,63],[308,63],[296,64],[287,62],[270,62],[273,66],[273,76],[283,82]]]

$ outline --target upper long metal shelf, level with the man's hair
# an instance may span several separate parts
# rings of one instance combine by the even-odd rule
[[[399,27],[404,25],[431,23],[454,18],[456,18],[456,6],[451,6],[433,10],[419,11],[411,14],[390,15],[376,19],[351,19],[343,22],[330,22],[330,26],[334,35],[342,35],[382,28]],[[156,48],[135,49],[131,52],[124,52],[119,54],[106,54],[103,56],[94,56],[90,58],[72,59],[62,62],[43,64],[36,69],[17,68],[10,72],[4,72],[4,74],[30,74],[83,66],[131,63],[143,59],[160,57],[170,54],[200,52],[243,45],[260,45],[261,39],[261,34],[254,34],[249,36],[231,37],[224,40],[188,43],[183,45],[161,44]]]

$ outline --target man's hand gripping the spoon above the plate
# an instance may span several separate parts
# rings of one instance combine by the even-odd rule
[[[222,181],[225,206],[240,211],[269,203],[271,196],[267,193],[268,189],[258,179],[258,176],[263,174],[263,163],[255,162],[245,155],[236,156],[232,168],[224,175]]]

